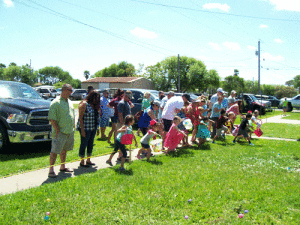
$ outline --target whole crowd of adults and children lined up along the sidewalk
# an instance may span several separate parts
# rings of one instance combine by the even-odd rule
[[[239,141],[237,138],[246,138],[250,145],[249,122],[257,123],[258,111],[252,116],[248,112],[243,116],[240,112],[241,101],[236,100],[236,92],[233,90],[228,98],[224,96],[222,88],[218,88],[217,93],[210,99],[207,96],[199,96],[191,101],[190,95],[183,94],[175,96],[170,91],[165,96],[163,91],[159,92],[159,101],[150,101],[150,93],[144,94],[142,110],[137,115],[131,114],[134,104],[130,101],[131,91],[118,89],[113,99],[109,100],[107,91],[100,94],[88,89],[87,97],[78,106],[78,121],[75,121],[75,112],[69,96],[72,93],[72,86],[65,84],[59,97],[52,101],[49,109],[49,120],[52,125],[53,138],[50,153],[50,168],[48,176],[56,177],[54,164],[57,155],[61,159],[61,172],[72,172],[65,167],[67,151],[74,146],[74,132],[80,132],[79,166],[90,167],[95,165],[91,161],[93,143],[96,135],[101,134],[101,138],[112,144],[114,151],[111,153],[106,163],[112,165],[113,156],[119,152],[118,160],[121,162],[120,170],[125,170],[124,163],[127,158],[126,141],[130,138],[138,146],[135,135],[142,133],[140,140],[141,149],[137,158],[141,159],[144,154],[147,160],[151,157],[150,141],[156,136],[162,139],[161,148],[165,154],[176,151],[177,146],[182,142],[183,146],[197,144],[203,145],[208,138],[214,144],[218,138],[225,139],[228,133],[234,133],[236,137],[233,143]],[[242,121],[239,126],[235,126],[237,116],[241,116]],[[191,132],[191,142],[189,142],[189,131],[184,125],[184,121],[189,119],[193,125]],[[138,120],[138,121],[136,121]],[[109,122],[111,129],[108,136],[105,135]],[[137,122],[138,131],[133,132],[133,124]],[[100,129],[99,129],[100,127]],[[126,137],[126,138],[125,138]],[[125,141],[124,141],[125,140]]]

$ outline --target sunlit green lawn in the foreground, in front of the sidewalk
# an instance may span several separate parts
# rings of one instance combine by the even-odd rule
[[[43,224],[50,212],[52,224],[299,224],[298,143],[227,139],[0,196],[0,221]]]

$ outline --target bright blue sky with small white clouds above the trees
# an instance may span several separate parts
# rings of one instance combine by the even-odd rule
[[[112,63],[202,60],[221,78],[234,69],[261,83],[300,74],[298,0],[1,0],[0,63],[59,66],[73,78]]]

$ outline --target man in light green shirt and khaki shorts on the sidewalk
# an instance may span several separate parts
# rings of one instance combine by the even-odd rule
[[[50,105],[48,119],[52,125],[52,145],[50,152],[50,168],[48,177],[54,178],[54,164],[57,155],[60,156],[60,171],[73,172],[66,168],[67,151],[74,147],[75,111],[72,102],[68,99],[73,89],[70,84],[62,86],[61,95],[56,97]]]

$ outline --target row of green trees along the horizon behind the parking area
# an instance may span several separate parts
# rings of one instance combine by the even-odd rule
[[[179,57],[179,64],[177,56],[170,56],[155,65],[144,67],[140,64],[138,69],[133,64],[122,61],[118,64],[113,63],[94,75],[85,70],[83,76],[86,80],[94,77],[145,77],[153,81],[154,89],[163,91],[180,89],[181,92],[212,94],[218,87],[222,87],[228,93],[235,90],[237,93],[259,94],[258,82],[240,77],[238,69],[221,81],[216,70],[207,70],[202,61],[187,56]],[[33,70],[28,64],[17,66],[10,63],[6,67],[0,63],[0,79],[19,81],[31,86],[40,82],[55,87],[61,87],[64,83],[70,83],[74,88],[81,87],[79,79],[73,79],[69,72],[57,66]],[[263,95],[273,95],[277,98],[292,97],[297,94],[297,89],[300,89],[300,75],[287,81],[285,85],[260,85]]]

